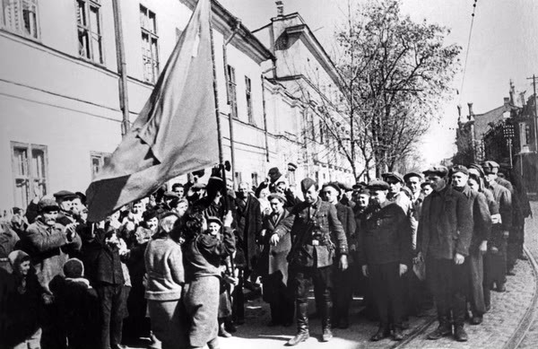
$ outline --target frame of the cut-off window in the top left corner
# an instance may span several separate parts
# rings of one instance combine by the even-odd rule
[[[14,26],[10,26],[7,24],[6,16],[4,13],[4,8],[7,8],[6,5],[4,7],[4,2],[10,2],[13,3],[13,22]],[[31,31],[30,33],[27,32],[26,22],[24,21],[24,8],[27,7],[28,9],[35,9],[34,12],[28,11],[29,13],[34,13],[35,21],[33,22],[33,25],[35,26],[34,31]],[[0,0],[0,9],[2,10],[0,12],[0,29],[4,31],[9,31],[16,35],[21,35],[22,37],[26,39],[31,39],[34,41],[40,41],[41,40],[41,31],[40,31],[40,21],[39,21],[39,0]],[[22,27],[21,27],[22,24]],[[32,22],[29,22],[30,27],[32,26]]]

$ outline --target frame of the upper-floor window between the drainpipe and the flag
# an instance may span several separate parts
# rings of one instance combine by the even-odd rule
[[[161,62],[159,60],[159,53],[161,52],[161,49],[159,48],[159,35],[157,34],[159,31],[158,23],[157,23],[157,13],[153,12],[152,10],[150,10],[148,6],[145,6],[143,4],[140,4],[139,8],[140,8],[139,14],[140,14],[140,31],[141,31],[140,39],[142,41],[143,81],[146,83],[154,84],[154,83],[157,83],[157,80],[159,79],[159,74],[161,74],[160,72]],[[143,18],[146,21],[143,21]],[[151,21],[152,18],[153,20]],[[153,22],[153,25],[152,25],[153,31],[150,28],[148,28],[150,22]],[[146,55],[147,50],[145,49],[146,41],[144,40],[144,36],[148,38],[147,43],[149,44],[150,56]],[[153,41],[155,42],[154,57],[153,57],[153,51],[152,51]],[[146,72],[146,60],[152,64],[151,79],[148,78],[148,74]]]

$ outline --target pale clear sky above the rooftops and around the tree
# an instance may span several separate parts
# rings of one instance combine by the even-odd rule
[[[366,2],[369,0],[357,0]],[[273,0],[220,0],[251,31],[265,25],[276,15]],[[298,12],[329,54],[333,52],[334,31],[343,21],[346,0],[283,0],[284,13]],[[402,0],[404,13],[417,22],[426,19],[451,29],[447,44],[457,43],[464,49],[473,13],[473,0]],[[456,151],[456,106],[461,104],[467,115],[467,102],[473,102],[474,113],[483,113],[502,105],[508,97],[512,79],[517,91],[533,93],[526,77],[538,75],[538,0],[478,0],[473,25],[464,85],[461,94],[444,102],[444,113],[425,135],[420,147],[426,164],[435,163]],[[462,75],[456,77],[460,89]]]

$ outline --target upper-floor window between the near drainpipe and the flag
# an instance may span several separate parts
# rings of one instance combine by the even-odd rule
[[[155,13],[140,5],[140,26],[142,30],[143,80],[156,83],[159,77],[159,48],[157,17]]]

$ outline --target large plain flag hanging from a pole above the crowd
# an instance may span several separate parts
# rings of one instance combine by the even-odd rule
[[[218,162],[210,11],[210,0],[198,1],[152,95],[86,190],[90,222]]]

